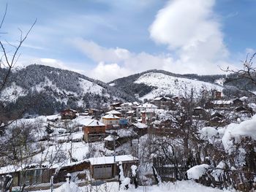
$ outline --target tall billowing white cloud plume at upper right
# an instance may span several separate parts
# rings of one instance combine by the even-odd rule
[[[178,63],[208,66],[227,59],[214,4],[214,0],[169,1],[149,28],[151,38],[175,51]]]

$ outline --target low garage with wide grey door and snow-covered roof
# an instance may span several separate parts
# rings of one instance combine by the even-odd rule
[[[94,180],[105,180],[116,177],[119,170],[119,163],[123,166],[124,177],[131,173],[131,166],[138,165],[138,158],[132,155],[105,156],[89,158],[91,176]]]

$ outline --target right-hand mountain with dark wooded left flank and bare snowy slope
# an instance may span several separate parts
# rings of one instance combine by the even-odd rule
[[[194,95],[199,95],[203,90],[222,91],[222,86],[214,82],[204,82],[186,75],[172,74],[170,72],[151,70],[134,74],[110,82],[109,85],[126,91],[130,94],[139,94],[140,99],[153,99],[161,95],[184,96],[194,90]]]

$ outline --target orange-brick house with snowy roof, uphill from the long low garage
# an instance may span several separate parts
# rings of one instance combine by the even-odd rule
[[[105,137],[106,125],[99,120],[90,120],[83,126],[83,140],[95,142]]]

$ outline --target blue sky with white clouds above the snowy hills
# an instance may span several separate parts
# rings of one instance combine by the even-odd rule
[[[9,54],[37,19],[17,66],[109,82],[148,69],[219,74],[256,50],[256,0],[0,0],[0,17],[6,4]]]

